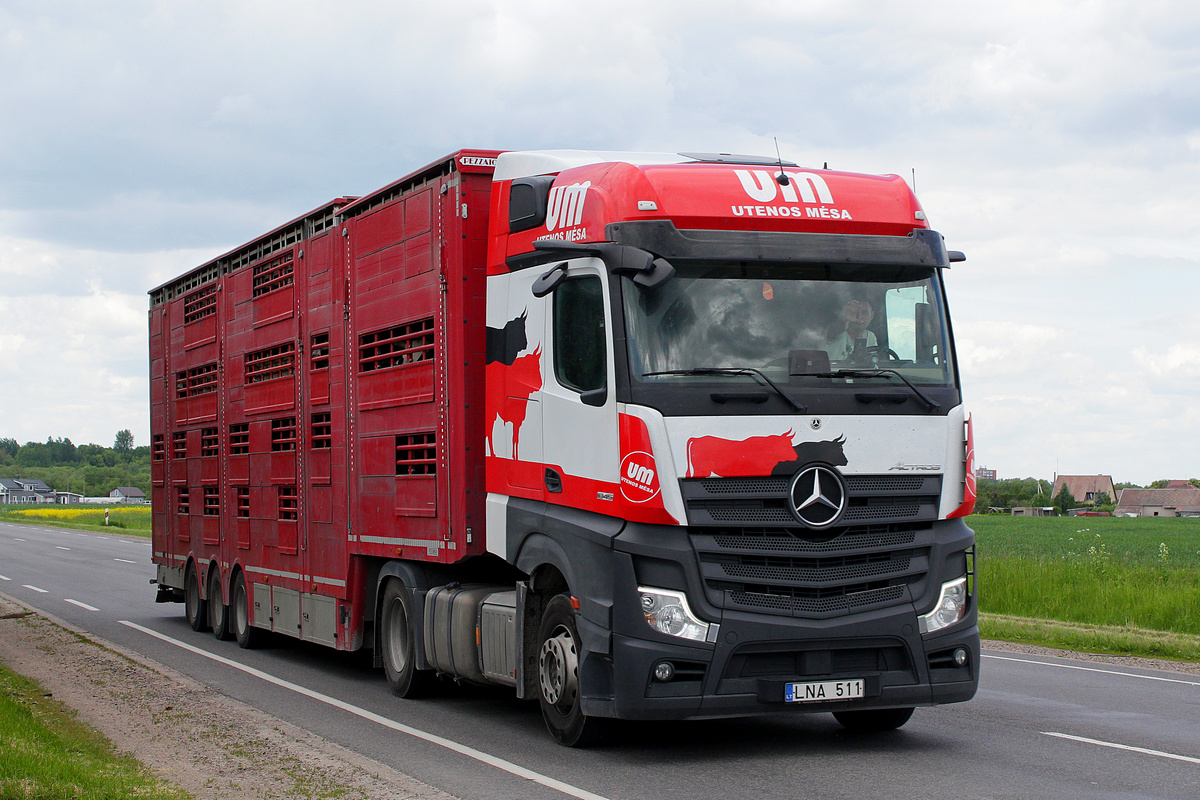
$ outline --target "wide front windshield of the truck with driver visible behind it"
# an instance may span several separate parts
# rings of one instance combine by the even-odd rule
[[[676,277],[656,289],[623,278],[635,384],[754,379],[728,372],[737,368],[793,385],[828,383],[840,371],[856,371],[846,378],[860,383],[871,369],[954,385],[930,267],[673,264]]]

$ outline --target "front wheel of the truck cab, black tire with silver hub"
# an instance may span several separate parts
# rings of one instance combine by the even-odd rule
[[[560,745],[590,747],[610,733],[611,721],[589,717],[580,704],[580,631],[566,595],[557,595],[538,627],[538,700],[546,729]]]

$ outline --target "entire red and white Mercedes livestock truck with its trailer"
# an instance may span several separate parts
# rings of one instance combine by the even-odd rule
[[[160,601],[551,734],[978,685],[942,273],[898,176],[461,150],[150,294]]]

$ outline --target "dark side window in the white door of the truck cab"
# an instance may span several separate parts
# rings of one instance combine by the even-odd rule
[[[563,281],[554,290],[554,377],[577,392],[604,389],[606,354],[600,278]]]

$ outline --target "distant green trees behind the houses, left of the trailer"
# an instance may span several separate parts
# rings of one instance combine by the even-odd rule
[[[0,477],[38,480],[55,492],[84,497],[103,497],[119,486],[136,486],[150,497],[150,447],[136,447],[128,429],[118,432],[112,447],[55,438],[19,444],[2,437]]]

